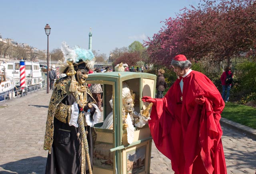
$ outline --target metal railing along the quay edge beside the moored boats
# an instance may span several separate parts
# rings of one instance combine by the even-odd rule
[[[0,95],[0,98],[2,96],[4,96],[4,100],[0,101],[0,104],[2,102],[6,103],[7,100],[12,100],[12,99],[17,99],[20,97],[24,97],[28,94],[31,94],[32,92],[36,92],[38,90],[42,90],[42,89],[46,89],[46,84],[42,83],[42,84],[38,84],[36,86],[32,86],[32,87],[24,87],[24,89],[21,88],[16,88],[16,90],[12,91],[12,92],[8,92],[6,94],[2,94]]]

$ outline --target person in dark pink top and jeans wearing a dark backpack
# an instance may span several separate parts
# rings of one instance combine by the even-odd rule
[[[225,71],[222,73],[220,77],[220,80],[222,84],[222,99],[227,103],[229,100],[230,89],[233,83],[233,73],[231,72],[230,66],[226,67]]]

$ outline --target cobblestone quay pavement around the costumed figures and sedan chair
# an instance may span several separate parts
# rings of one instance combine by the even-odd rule
[[[50,97],[46,90],[39,90],[0,103],[0,174],[44,174],[48,152],[43,150],[43,143]],[[222,129],[228,174],[254,174],[256,141],[233,129]],[[150,174],[173,173],[170,160],[152,143]]]

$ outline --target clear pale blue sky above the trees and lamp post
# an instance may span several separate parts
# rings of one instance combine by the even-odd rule
[[[134,41],[158,33],[170,17],[200,0],[2,0],[0,33],[3,39],[47,49],[46,23],[50,25],[49,50],[62,41],[88,49],[92,27],[92,49],[105,53],[128,47]],[[99,51],[98,51],[99,50]]]

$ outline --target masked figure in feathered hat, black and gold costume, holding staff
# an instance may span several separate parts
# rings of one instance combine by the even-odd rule
[[[92,174],[93,126],[100,110],[86,84],[94,55],[62,43],[68,67],[59,78],[50,100],[44,150],[48,150],[46,174]]]

